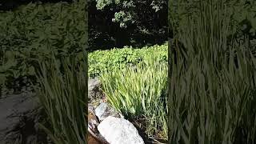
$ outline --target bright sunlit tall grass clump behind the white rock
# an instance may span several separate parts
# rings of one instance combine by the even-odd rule
[[[146,133],[161,133],[167,138],[166,82],[167,64],[148,54],[132,67],[103,70],[102,89],[108,101],[126,118],[146,118]]]

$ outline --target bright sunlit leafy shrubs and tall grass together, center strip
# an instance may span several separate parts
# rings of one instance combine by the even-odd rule
[[[150,138],[167,139],[167,43],[89,54],[90,77],[98,77],[110,104],[130,120],[144,119]]]

